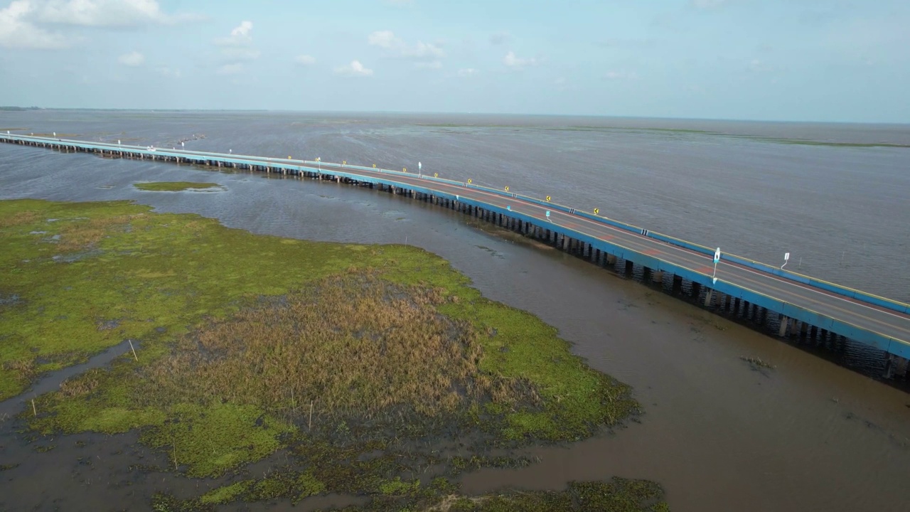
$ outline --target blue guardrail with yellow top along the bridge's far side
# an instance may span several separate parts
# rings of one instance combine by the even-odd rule
[[[13,134],[0,134],[0,138],[4,138],[6,140],[10,140],[10,139],[31,140],[31,141],[35,141],[35,142],[49,142],[52,144],[53,143],[61,144],[61,145],[66,144],[69,146],[76,146],[76,147],[80,147],[80,148],[89,148],[89,149],[97,148],[97,149],[105,149],[105,150],[127,150],[127,151],[132,151],[132,152],[144,153],[144,154],[148,154],[148,155],[163,155],[163,156],[169,156],[169,157],[181,157],[181,158],[198,157],[199,159],[202,159],[202,160],[211,158],[211,159],[218,159],[218,160],[222,160],[222,161],[243,163],[246,165],[258,165],[258,166],[266,165],[268,167],[275,167],[278,169],[294,169],[294,170],[298,170],[298,171],[303,170],[304,168],[326,170],[326,171],[338,171],[338,169],[353,169],[353,170],[366,170],[366,171],[370,171],[370,172],[381,172],[383,174],[388,174],[391,176],[401,175],[401,176],[408,176],[409,178],[413,178],[415,176],[415,174],[413,172],[406,172],[403,170],[399,171],[399,170],[394,170],[394,169],[382,169],[382,168],[376,168],[376,167],[365,167],[365,166],[348,164],[347,162],[339,164],[339,163],[334,163],[334,162],[322,162],[322,161],[306,160],[306,159],[303,159],[303,160],[279,159],[279,158],[271,159],[271,158],[264,158],[264,157],[255,157],[255,156],[251,156],[251,155],[234,155],[234,154],[226,155],[223,153],[211,153],[211,152],[206,152],[206,151],[193,151],[193,150],[185,150],[185,149],[180,149],[179,153],[171,152],[171,151],[169,151],[167,149],[163,149],[163,148],[157,148],[156,150],[151,151],[151,150],[148,150],[147,148],[143,148],[141,146],[120,145],[120,144],[112,144],[112,143],[105,143],[105,142],[95,143],[95,142],[79,141],[79,140],[72,140],[72,139],[56,139],[55,140],[54,138],[42,138],[42,137],[13,135]],[[302,164],[302,165],[300,165],[300,164]],[[517,194],[517,193],[511,193],[511,192],[507,192],[503,189],[493,189],[491,187],[485,187],[483,185],[468,183],[465,181],[455,181],[455,180],[451,180],[451,179],[443,179],[443,178],[439,178],[439,177],[435,177],[435,176],[428,176],[425,174],[419,174],[419,176],[420,176],[420,179],[427,179],[430,181],[439,181],[442,183],[448,183],[451,185],[465,187],[467,189],[482,190],[482,191],[485,191],[488,193],[499,195],[502,198],[521,199],[521,200],[528,201],[528,202],[537,204],[539,206],[542,206],[542,207],[545,207],[545,208],[548,208],[551,210],[559,210],[559,211],[562,211],[565,213],[570,213],[572,215],[577,215],[577,216],[585,218],[585,219],[601,222],[603,224],[610,225],[614,228],[618,228],[621,230],[627,230],[627,231],[636,233],[638,235],[651,238],[653,240],[662,241],[664,243],[669,243],[669,244],[675,245],[677,247],[682,247],[683,249],[687,249],[689,251],[695,251],[695,252],[704,254],[709,257],[713,257],[713,254],[714,254],[713,249],[711,249],[709,247],[705,247],[705,246],[697,244],[697,243],[693,243],[690,241],[684,241],[684,240],[681,240],[681,239],[678,239],[678,238],[675,238],[675,237],[672,237],[669,235],[664,235],[662,233],[657,233],[657,232],[653,232],[651,230],[639,228],[638,226],[634,226],[632,224],[621,222],[619,220],[612,220],[608,217],[602,217],[600,215],[595,215],[593,213],[589,213],[584,210],[574,209],[569,206],[565,206],[565,205],[561,205],[559,203],[552,202],[550,200],[540,200],[537,198],[533,198],[531,196],[525,196],[525,195],[521,195],[521,194]],[[363,177],[360,177],[359,175],[348,174],[348,173],[345,173],[345,177],[350,178],[350,179],[362,179],[363,178]],[[400,184],[400,185],[403,186],[404,184]],[[857,301],[874,304],[876,306],[883,307],[883,308],[889,309],[891,311],[910,313],[910,304],[907,304],[905,302],[894,301],[892,299],[887,299],[885,297],[881,297],[881,296],[875,295],[873,293],[862,292],[859,290],[855,290],[854,288],[849,288],[846,286],[842,286],[840,284],[835,284],[833,282],[827,282],[827,281],[824,281],[821,279],[816,279],[816,278],[813,278],[813,277],[810,277],[810,276],[807,276],[804,274],[800,274],[800,273],[797,273],[794,271],[784,271],[784,270],[781,270],[772,265],[768,265],[768,264],[762,263],[760,261],[750,260],[748,258],[744,258],[742,256],[737,256],[735,254],[731,254],[731,253],[727,253],[727,252],[722,253],[721,257],[725,261],[731,261],[738,265],[742,265],[744,267],[751,268],[756,271],[770,273],[772,275],[782,277],[782,278],[788,279],[790,281],[807,284],[809,286],[813,286],[815,288],[824,290],[826,292],[837,293],[839,295],[843,295],[845,297],[849,297],[849,298],[857,300]]]

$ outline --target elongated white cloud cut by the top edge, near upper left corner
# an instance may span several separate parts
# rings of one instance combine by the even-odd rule
[[[156,0],[28,0],[39,21],[78,26],[173,24],[197,15],[167,15]]]

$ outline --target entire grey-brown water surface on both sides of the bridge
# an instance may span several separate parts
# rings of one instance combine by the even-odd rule
[[[654,121],[641,120],[482,118],[485,126],[465,126],[481,123],[265,113],[6,114],[0,125],[36,133],[136,138],[158,146],[204,133],[207,138],[187,147],[384,167],[420,159],[442,176],[470,175],[576,206],[588,201],[614,218],[757,259],[772,261],[778,241],[782,248],[796,244],[788,248],[792,261],[802,255],[804,271],[868,282],[870,290],[876,283],[876,292],[895,298],[907,294],[901,249],[910,219],[907,148],[780,144],[649,130]],[[674,122],[682,125],[667,121],[658,128],[721,131],[711,123]],[[779,132],[749,123],[725,129],[848,142],[910,138],[905,128],[888,127],[846,134],[801,125]],[[227,190],[142,192],[132,188],[138,180],[213,180]],[[674,510],[910,509],[910,396],[904,392],[561,252],[470,228],[456,212],[337,184],[0,145],[0,199],[20,197],[136,200],[230,227],[313,240],[407,240],[451,261],[491,299],[540,315],[592,366],[634,387],[645,408],[641,424],[568,448],[535,450],[541,463],[525,469],[468,475],[463,487],[470,493],[628,476],[661,482]],[[864,254],[847,252],[841,264],[846,249],[838,247],[864,243]],[[880,271],[870,270],[875,265]],[[777,368],[755,372],[741,355]],[[133,476],[124,486],[131,463],[109,453],[109,442],[84,449],[108,461],[89,471],[72,450],[35,454],[19,445],[11,423],[0,438],[0,464],[21,459],[22,466],[3,473],[0,508],[144,507],[156,489],[188,495],[198,491],[189,486],[208,485],[157,475]]]

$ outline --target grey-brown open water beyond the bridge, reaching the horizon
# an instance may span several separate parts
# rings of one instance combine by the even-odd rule
[[[910,125],[38,110],[0,113],[3,128],[388,169],[420,161],[757,261],[790,252],[789,270],[910,301],[910,147],[793,143],[910,146]]]

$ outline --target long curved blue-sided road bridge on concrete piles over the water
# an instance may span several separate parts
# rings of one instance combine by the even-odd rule
[[[910,304],[824,282],[772,265],[612,220],[593,212],[491,189],[467,181],[317,160],[279,159],[151,148],[105,142],[0,134],[0,141],[87,152],[107,158],[151,159],[210,167],[251,169],[300,179],[338,182],[387,190],[459,210],[525,236],[546,241],[601,266],[624,261],[654,282],[683,287],[717,311],[776,328],[780,336],[825,340],[844,336],[885,353],[885,377],[910,371]]]

